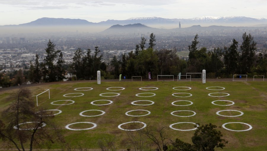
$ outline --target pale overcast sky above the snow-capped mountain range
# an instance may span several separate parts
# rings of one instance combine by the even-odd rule
[[[98,23],[154,16],[267,18],[267,0],[0,0],[0,25],[18,25],[42,17]]]

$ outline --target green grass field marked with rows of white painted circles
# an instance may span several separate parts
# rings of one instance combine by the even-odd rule
[[[175,90],[174,87],[185,86],[190,87],[190,90]],[[208,90],[206,87],[224,87],[223,90]],[[88,91],[75,91],[75,88],[91,87],[92,90]],[[111,91],[107,90],[109,87],[123,87],[124,90]],[[157,87],[157,90],[144,91],[139,88],[142,87]],[[48,93],[44,93],[39,96],[39,107],[46,107],[48,110],[58,109],[62,110],[61,114],[55,115],[55,122],[60,128],[63,129],[63,133],[67,142],[73,147],[77,147],[80,144],[86,148],[98,148],[96,142],[103,137],[115,138],[118,148],[124,148],[123,140],[127,137],[126,131],[120,130],[118,125],[130,121],[141,121],[147,124],[147,126],[157,126],[159,124],[169,126],[178,122],[193,122],[200,124],[212,123],[217,126],[222,126],[228,122],[242,122],[251,125],[253,128],[249,131],[229,131],[224,128],[218,128],[223,138],[228,140],[229,143],[223,150],[266,150],[267,143],[267,82],[207,82],[203,84],[201,82],[102,82],[98,85],[96,82],[83,82],[83,83],[60,83],[44,86],[29,87],[33,92],[33,95],[37,95],[45,89],[50,89],[51,98],[48,99]],[[176,89],[188,89],[188,88],[176,88]],[[211,88],[212,89],[212,88]],[[215,88],[213,88],[215,89]],[[218,88],[217,88],[218,89]],[[82,90],[82,89],[80,89]],[[0,93],[0,107],[4,110],[11,101],[8,100],[8,96],[13,94],[15,90],[2,91]],[[209,93],[228,93],[226,97],[211,97]],[[64,94],[68,96],[75,96],[80,94],[70,93],[83,93],[81,97],[63,97]],[[102,93],[119,93],[116,97],[102,97],[99,94]],[[139,93],[155,93],[153,97],[138,97]],[[175,97],[174,93],[190,93],[191,97]],[[115,95],[115,94],[105,94]],[[146,96],[147,94],[140,94],[140,96]],[[150,94],[151,95],[151,94]],[[176,94],[177,96],[188,96],[189,94]],[[221,95],[221,94],[214,94]],[[223,94],[224,95],[224,94]],[[73,100],[75,103],[70,105],[52,105],[53,101],[57,100]],[[108,101],[97,101],[92,105],[90,102],[95,100],[110,100],[112,104],[98,106],[99,104],[109,103]],[[132,105],[131,102],[137,100],[150,100],[155,102],[152,105]],[[175,105],[187,105],[190,102],[180,101],[175,102],[175,105],[171,103],[178,100],[187,100],[193,102],[188,106],[175,106]],[[214,105],[211,102],[215,100],[229,100],[233,101],[234,105],[229,105],[231,102],[217,101],[219,106]],[[55,102],[57,104],[71,103],[70,101]],[[150,102],[136,102],[136,104],[148,104]],[[85,110],[102,110],[105,114],[94,117],[80,116],[79,114]],[[125,113],[130,110],[148,110],[151,114],[146,116],[127,116]],[[190,110],[196,112],[175,112],[174,115],[190,116],[179,117],[171,115],[171,112],[178,110]],[[244,115],[237,117],[225,117],[216,115],[220,110],[238,110],[244,113]],[[57,112],[55,112],[57,113]],[[84,112],[83,115],[92,116],[101,114],[99,111]],[[130,115],[145,115],[146,111],[133,111],[128,113]],[[221,115],[234,116],[239,115],[236,111],[222,111]],[[96,128],[82,131],[71,131],[65,128],[66,125],[75,122],[93,122],[97,124]],[[80,123],[69,126],[70,128],[90,128],[92,124]],[[141,125],[143,126],[143,125]],[[135,128],[134,124],[125,124],[122,128]],[[177,124],[173,126],[177,129],[192,129],[194,124]],[[226,128],[233,130],[244,130],[249,128],[244,124],[227,124]],[[173,129],[168,130],[170,132],[170,138],[179,138],[185,142],[191,142],[191,137],[194,131],[177,131]],[[58,149],[59,145],[54,144],[53,149]],[[216,149],[221,150],[221,149]]]

